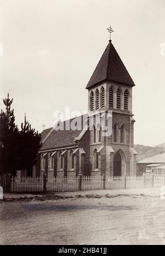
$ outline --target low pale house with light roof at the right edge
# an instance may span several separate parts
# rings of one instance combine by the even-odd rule
[[[137,175],[142,175],[145,172],[152,172],[154,174],[165,174],[165,153],[156,154],[156,156],[149,157],[137,162]]]

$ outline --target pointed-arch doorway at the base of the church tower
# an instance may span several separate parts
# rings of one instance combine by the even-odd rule
[[[125,154],[118,150],[113,158],[113,176],[122,176],[126,174]]]

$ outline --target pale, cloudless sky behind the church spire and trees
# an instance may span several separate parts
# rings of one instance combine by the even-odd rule
[[[20,127],[52,127],[54,111],[87,110],[85,89],[112,42],[133,78],[134,143],[165,142],[164,0],[0,0],[0,109]]]

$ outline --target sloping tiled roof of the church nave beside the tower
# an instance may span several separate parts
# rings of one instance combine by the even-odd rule
[[[61,121],[58,126],[54,129],[50,128],[43,130],[41,136],[47,136],[50,132],[50,135],[43,141],[43,145],[40,148],[40,152],[46,150],[56,150],[57,148],[72,146],[75,144],[74,138],[78,137],[83,130],[83,120],[86,120],[85,115],[78,116],[73,119],[66,121]],[[73,126],[76,126],[76,129]]]

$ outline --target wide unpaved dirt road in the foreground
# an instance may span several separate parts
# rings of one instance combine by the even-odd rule
[[[0,244],[165,244],[164,227],[156,196],[0,204]]]

